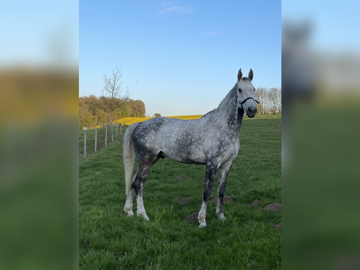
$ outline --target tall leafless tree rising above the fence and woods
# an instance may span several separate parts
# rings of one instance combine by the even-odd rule
[[[104,86],[101,91],[101,99],[103,101],[104,111],[110,114],[110,124],[112,124],[113,112],[117,109],[120,109],[130,97],[129,89],[126,87],[126,91],[122,91],[122,82],[121,82],[121,69],[116,67],[116,70],[113,69],[112,75],[109,77],[107,74],[104,75]],[[109,124],[109,118],[107,117],[107,122]]]

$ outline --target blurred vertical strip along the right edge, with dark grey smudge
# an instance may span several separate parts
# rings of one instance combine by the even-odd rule
[[[282,266],[359,269],[357,1],[282,1]]]

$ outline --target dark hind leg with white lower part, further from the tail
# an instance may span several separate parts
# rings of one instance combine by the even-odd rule
[[[140,162],[139,161],[139,167],[134,179],[134,182],[131,184],[131,188],[134,189],[134,192],[136,194],[136,205],[137,210],[136,213],[138,217],[143,217],[145,220],[150,220],[149,217],[146,214],[145,208],[144,208],[144,202],[143,202],[143,189],[145,185],[145,181],[148,178],[148,174],[150,171],[151,166],[158,160],[154,162]]]

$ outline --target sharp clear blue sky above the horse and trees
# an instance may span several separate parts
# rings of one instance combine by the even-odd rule
[[[281,87],[281,1],[81,0],[79,12],[79,96],[99,96],[116,66],[150,116],[211,111],[239,68]]]

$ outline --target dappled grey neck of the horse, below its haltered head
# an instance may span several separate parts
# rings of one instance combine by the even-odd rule
[[[225,122],[226,128],[234,136],[239,135],[241,123],[244,117],[244,111],[239,109],[238,100],[236,98],[237,84],[229,91],[225,98],[215,109],[215,114],[221,121]]]

